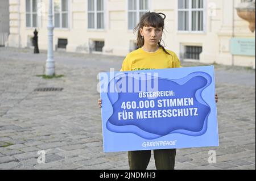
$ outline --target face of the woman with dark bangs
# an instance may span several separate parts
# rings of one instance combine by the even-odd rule
[[[156,46],[162,38],[163,28],[143,27],[143,29],[140,28],[140,32],[144,37],[144,44]]]

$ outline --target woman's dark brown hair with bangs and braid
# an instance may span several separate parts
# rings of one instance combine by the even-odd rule
[[[163,16],[161,16],[163,15]],[[141,36],[141,33],[139,32],[139,28],[143,27],[154,27],[154,28],[162,28],[164,30],[164,19],[166,19],[166,15],[163,14],[162,12],[156,13],[156,12],[146,12],[141,16],[141,20],[138,23],[137,27],[134,28],[134,33],[138,31],[137,35],[137,46],[141,48],[144,45],[144,39]],[[159,47],[162,47],[164,52],[167,54],[170,54],[166,51],[166,49],[161,45],[162,39],[158,42]]]

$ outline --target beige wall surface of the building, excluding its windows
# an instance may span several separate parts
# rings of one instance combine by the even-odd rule
[[[45,12],[39,17],[39,49],[47,49],[48,1],[40,0]],[[183,33],[177,31],[177,1],[151,0],[151,11],[167,15],[166,30],[163,35],[167,49],[174,50],[180,57],[184,45],[200,45],[203,52],[200,62],[251,66],[255,68],[255,56],[232,56],[230,39],[234,37],[255,38],[245,20],[237,16],[236,9],[240,0],[205,0],[205,31],[203,33]],[[211,8],[210,8],[211,7]],[[213,8],[212,8],[213,7]],[[69,28],[55,28],[53,44],[58,38],[68,39],[68,52],[89,53],[93,40],[104,40],[104,54],[125,56],[130,52],[135,35],[128,30],[127,0],[105,0],[105,29],[88,30],[87,3],[84,0],[69,1]],[[34,28],[26,27],[25,1],[10,0],[10,47],[28,47]],[[234,14],[233,14],[234,13]],[[234,19],[234,28],[233,28]]]

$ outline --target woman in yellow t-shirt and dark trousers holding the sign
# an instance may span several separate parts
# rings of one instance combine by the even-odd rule
[[[121,71],[180,68],[179,58],[161,44],[164,30],[163,13],[146,12],[134,32],[137,35],[137,50],[127,54]],[[218,97],[215,95],[217,102]],[[98,99],[101,107],[101,99]],[[176,149],[154,150],[156,169],[174,169]],[[131,170],[145,170],[151,157],[151,150],[128,151]]]

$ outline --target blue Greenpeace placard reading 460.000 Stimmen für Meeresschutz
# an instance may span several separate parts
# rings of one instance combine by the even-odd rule
[[[218,146],[213,66],[99,78],[105,152]]]

